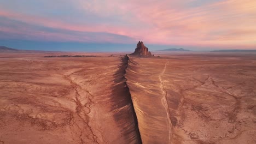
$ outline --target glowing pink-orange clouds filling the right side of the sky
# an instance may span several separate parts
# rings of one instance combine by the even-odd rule
[[[256,1],[226,0],[189,7],[190,1],[75,1],[79,10],[99,17],[119,17],[121,23],[78,24],[50,17],[18,14],[1,9],[0,16],[50,28],[78,32],[107,32],[126,35],[153,44],[226,46],[256,45]],[[24,32],[25,33],[25,32]],[[82,40],[72,35],[45,37]],[[86,38],[84,38],[86,40]],[[102,38],[115,42],[115,39]],[[88,39],[90,40],[90,39]]]

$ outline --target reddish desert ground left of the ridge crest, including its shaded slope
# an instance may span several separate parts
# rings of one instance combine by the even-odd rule
[[[12,57],[0,59],[0,143],[138,143],[120,57]]]

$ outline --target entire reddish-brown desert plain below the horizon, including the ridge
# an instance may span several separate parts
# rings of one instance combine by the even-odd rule
[[[0,143],[256,143],[256,55],[0,55]]]

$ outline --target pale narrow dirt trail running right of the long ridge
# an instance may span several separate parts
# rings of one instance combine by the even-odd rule
[[[171,122],[171,118],[170,118],[170,113],[169,113],[169,106],[167,103],[167,91],[165,89],[165,83],[164,81],[162,81],[162,75],[164,75],[166,67],[167,67],[168,61],[165,63],[165,68],[162,70],[162,72],[159,75],[159,81],[160,81],[160,89],[162,91],[162,105],[165,107],[166,110],[166,115],[167,115],[167,119],[168,119],[168,125],[169,125],[169,137],[168,137],[168,141],[169,143],[171,143],[171,139],[172,139],[172,122]]]

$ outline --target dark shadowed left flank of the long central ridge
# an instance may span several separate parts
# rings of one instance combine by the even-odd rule
[[[128,61],[129,57],[127,55],[121,57],[121,65],[119,65],[118,70],[114,74],[115,86],[113,87],[113,97],[111,99],[113,104],[112,111],[115,111],[115,121],[119,124],[119,127],[123,128],[122,133],[127,142],[136,140],[136,143],[142,143],[130,89],[126,83],[125,74]]]

